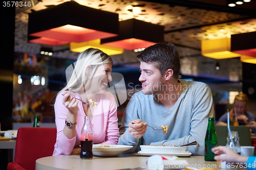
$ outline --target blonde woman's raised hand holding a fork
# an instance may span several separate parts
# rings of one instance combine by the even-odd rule
[[[63,95],[63,99],[62,99],[62,103],[63,105],[69,109],[69,111],[72,114],[77,114],[78,112],[78,101],[73,98],[70,93],[66,92],[65,95]]]

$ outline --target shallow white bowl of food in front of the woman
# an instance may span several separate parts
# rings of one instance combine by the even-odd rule
[[[102,145],[109,145],[110,148],[99,148]],[[117,145],[117,144],[94,144],[93,155],[95,156],[118,156],[122,152],[133,148],[129,145]]]

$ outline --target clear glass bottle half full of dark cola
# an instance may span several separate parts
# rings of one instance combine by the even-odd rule
[[[81,130],[81,159],[93,158],[93,129],[91,126],[90,116],[84,116],[84,124]]]

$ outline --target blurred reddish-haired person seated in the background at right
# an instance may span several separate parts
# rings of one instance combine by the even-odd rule
[[[235,120],[235,114],[234,109],[236,109],[237,112],[237,119],[239,125],[248,125],[249,122],[254,121],[254,116],[252,113],[247,112],[248,106],[248,98],[245,93],[239,93],[234,98],[233,108],[229,112],[230,117],[230,125],[234,123]],[[223,114],[219,122],[216,124],[216,126],[227,126],[227,113]]]

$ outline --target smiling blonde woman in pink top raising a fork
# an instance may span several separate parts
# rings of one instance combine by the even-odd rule
[[[53,155],[80,153],[80,135],[86,115],[91,118],[94,144],[117,144],[117,105],[112,93],[105,91],[112,81],[111,71],[110,56],[95,48],[82,52],[67,68],[67,85],[57,94],[54,105],[57,138]]]

